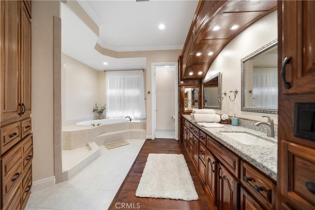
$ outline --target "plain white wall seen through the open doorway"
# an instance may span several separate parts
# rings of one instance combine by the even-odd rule
[[[175,70],[156,70],[156,130],[174,131]],[[147,119],[148,120],[148,119]]]

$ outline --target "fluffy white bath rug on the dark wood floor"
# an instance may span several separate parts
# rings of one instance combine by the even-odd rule
[[[183,154],[149,154],[137,197],[198,200]]]

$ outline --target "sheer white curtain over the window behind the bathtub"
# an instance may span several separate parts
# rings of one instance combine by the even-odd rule
[[[146,118],[143,70],[106,71],[106,117]]]

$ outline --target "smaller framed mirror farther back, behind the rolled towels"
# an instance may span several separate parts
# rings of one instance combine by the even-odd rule
[[[203,108],[221,109],[221,72],[202,83]]]

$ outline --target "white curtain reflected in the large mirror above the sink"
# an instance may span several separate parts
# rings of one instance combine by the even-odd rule
[[[253,68],[253,105],[257,107],[278,107],[277,68]]]

